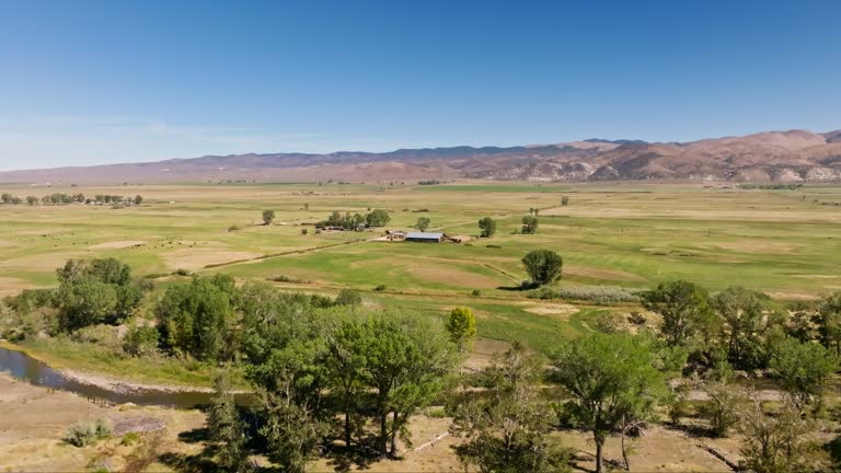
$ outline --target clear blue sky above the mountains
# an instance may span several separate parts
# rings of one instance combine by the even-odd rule
[[[841,128],[839,1],[0,2],[0,170]]]

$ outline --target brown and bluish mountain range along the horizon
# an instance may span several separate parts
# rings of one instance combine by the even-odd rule
[[[13,158],[13,157],[9,157]],[[590,138],[554,145],[245,153],[0,172],[0,182],[116,184],[485,178],[497,181],[841,181],[841,130],[767,131],[690,142]]]

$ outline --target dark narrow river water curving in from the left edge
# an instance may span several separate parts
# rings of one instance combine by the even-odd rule
[[[62,376],[59,371],[26,354],[0,347],[0,371],[8,371],[32,384],[71,391],[85,397],[105,400],[116,404],[135,403],[165,407],[191,408],[210,402],[211,394],[200,391],[170,392],[151,389],[111,391],[97,385],[84,384]],[[238,396],[238,403],[249,403],[249,396]]]

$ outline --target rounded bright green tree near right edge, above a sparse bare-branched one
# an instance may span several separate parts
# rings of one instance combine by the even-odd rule
[[[827,377],[838,368],[838,358],[814,343],[786,337],[771,356],[769,368],[799,408],[813,397],[820,402]]]

